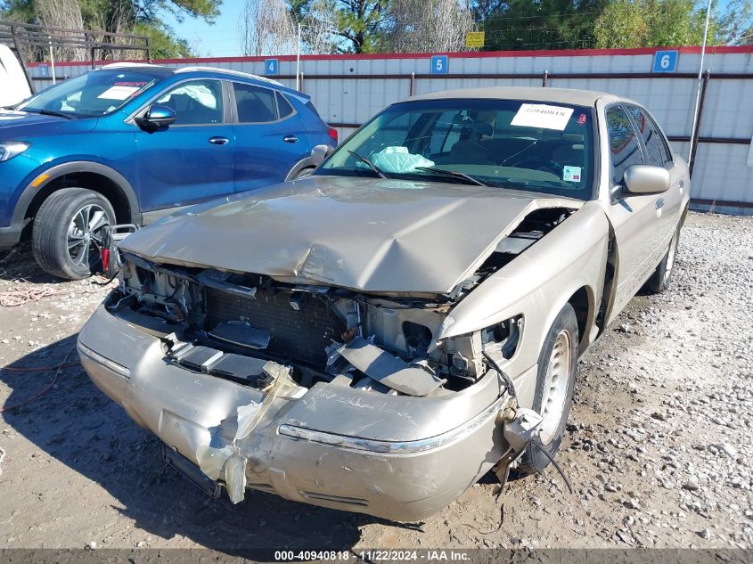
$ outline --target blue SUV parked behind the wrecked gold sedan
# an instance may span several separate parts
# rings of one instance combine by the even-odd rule
[[[337,144],[306,94],[226,69],[114,64],[0,110],[0,249],[85,278],[105,225],[310,173]]]

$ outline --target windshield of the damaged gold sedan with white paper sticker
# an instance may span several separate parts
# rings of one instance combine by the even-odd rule
[[[485,184],[592,198],[591,108],[520,100],[390,106],[316,174]]]

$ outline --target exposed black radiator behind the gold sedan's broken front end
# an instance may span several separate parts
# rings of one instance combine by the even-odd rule
[[[272,339],[267,350],[283,358],[323,366],[324,348],[332,340],[341,340],[345,323],[326,304],[315,297],[300,303],[300,311],[290,304],[290,292],[258,290],[256,298],[246,298],[214,288],[205,288],[207,297],[206,329],[231,320],[248,321],[268,330]],[[296,296],[300,296],[296,293]]]

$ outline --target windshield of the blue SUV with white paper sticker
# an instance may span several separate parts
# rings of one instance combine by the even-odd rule
[[[159,82],[130,69],[104,69],[66,80],[20,104],[18,110],[62,114],[70,118],[105,116]]]

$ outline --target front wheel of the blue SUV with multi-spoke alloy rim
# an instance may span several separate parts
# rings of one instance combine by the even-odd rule
[[[110,202],[84,188],[62,188],[47,197],[34,218],[31,249],[47,274],[81,280],[97,272],[102,229],[115,223]]]

